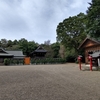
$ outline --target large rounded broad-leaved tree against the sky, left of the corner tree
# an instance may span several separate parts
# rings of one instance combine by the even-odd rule
[[[66,48],[75,49],[78,53],[78,46],[86,37],[86,15],[83,13],[69,17],[57,26],[57,41]]]

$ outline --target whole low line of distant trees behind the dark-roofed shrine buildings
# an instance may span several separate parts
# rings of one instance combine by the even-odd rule
[[[25,38],[20,40],[0,40],[0,47],[3,47],[6,50],[22,50],[23,54],[29,56],[31,52],[36,50],[38,46],[41,45],[45,50],[47,50],[46,58],[57,58],[59,57],[59,43],[50,44],[50,40],[45,41],[44,44],[38,44],[34,41],[28,41]]]

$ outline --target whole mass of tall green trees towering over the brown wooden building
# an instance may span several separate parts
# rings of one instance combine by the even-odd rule
[[[92,0],[89,5],[86,15],[69,17],[57,26],[57,41],[65,46],[69,57],[79,53],[77,48],[87,36],[100,39],[100,0]]]

